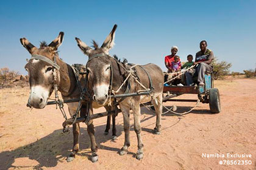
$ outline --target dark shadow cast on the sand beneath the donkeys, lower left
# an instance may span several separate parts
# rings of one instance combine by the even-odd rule
[[[110,151],[119,151],[118,148],[110,148],[101,146],[101,143],[111,140],[112,132],[108,135],[103,135],[105,125],[96,126],[96,142],[98,147],[101,149],[106,149]],[[116,125],[117,137],[121,135],[123,126]],[[87,134],[87,130],[84,127],[80,128],[79,146],[80,151],[86,149],[86,151],[79,152],[77,155],[82,155],[88,159],[91,156],[90,148],[90,138]],[[33,168],[33,169],[42,169],[42,167],[54,167],[57,165],[58,161],[66,161],[66,157],[69,155],[73,147],[73,133],[72,127],[70,134],[63,134],[62,129],[55,130],[46,137],[40,138],[39,140],[27,144],[26,146],[21,146],[12,151],[4,151],[0,153],[0,169],[9,169],[9,168]],[[14,166],[12,165],[15,161],[15,158],[28,157],[30,160],[38,161],[39,165],[37,166]]]

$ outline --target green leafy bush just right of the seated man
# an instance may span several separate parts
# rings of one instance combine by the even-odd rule
[[[230,72],[231,63],[227,63],[227,61],[218,61],[218,58],[215,58],[212,61],[213,64],[213,74],[214,79],[223,78],[225,75],[228,75]]]

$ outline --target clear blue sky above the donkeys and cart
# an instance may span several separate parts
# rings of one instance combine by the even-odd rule
[[[110,54],[129,63],[155,63],[165,70],[171,46],[187,61],[205,39],[219,60],[232,63],[231,71],[256,67],[256,1],[2,1],[0,23],[0,68],[23,74],[30,55],[20,38],[39,46],[63,31],[60,58],[85,64],[74,37],[102,44],[114,24]]]

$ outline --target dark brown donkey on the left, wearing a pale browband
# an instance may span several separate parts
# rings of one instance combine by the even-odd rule
[[[77,86],[76,76],[74,75],[73,69],[69,64],[64,63],[60,60],[57,53],[58,47],[62,44],[63,41],[63,32],[60,32],[59,36],[54,39],[49,45],[45,42],[41,43],[40,48],[38,49],[32,45],[26,38],[21,38],[21,44],[29,51],[32,55],[32,58],[26,64],[25,69],[29,73],[29,84],[30,84],[30,95],[28,100],[28,105],[35,107],[37,109],[43,109],[47,102],[49,96],[53,91],[53,69],[54,67],[59,66],[57,70],[57,87],[62,94],[64,100],[79,98],[80,97],[80,88]],[[57,66],[51,64],[54,61],[54,56],[56,58]],[[81,86],[84,87],[85,84],[85,75],[79,75],[79,81]],[[84,103],[85,104],[85,103]],[[86,104],[85,104],[86,105]],[[76,113],[78,103],[68,103],[69,114],[72,117]],[[93,103],[93,107],[99,107],[97,103]],[[111,107],[106,106],[107,110],[110,110]],[[81,110],[82,114],[82,110]],[[108,132],[110,126],[110,118],[108,118],[107,127],[105,134]],[[88,134],[91,138],[91,149],[93,151],[92,161],[97,161],[98,156],[96,154],[97,146],[94,138],[94,126],[92,121],[88,124],[87,128]],[[116,127],[115,127],[115,115],[113,115],[113,138],[116,138]],[[73,124],[73,136],[74,136],[74,145],[73,151],[68,156],[67,161],[74,160],[74,157],[79,151],[79,134],[80,127],[79,123]]]

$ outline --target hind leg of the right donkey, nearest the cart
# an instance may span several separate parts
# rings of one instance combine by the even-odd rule
[[[155,128],[154,128],[154,133],[157,135],[161,134],[161,116],[162,116],[162,112],[163,112],[163,96],[162,95],[158,95],[158,97],[156,98],[152,98],[151,102],[154,105],[155,108],[155,113],[157,114],[157,121],[155,123]]]

